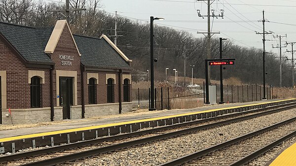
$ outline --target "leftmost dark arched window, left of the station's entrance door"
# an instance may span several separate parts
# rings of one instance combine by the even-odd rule
[[[40,78],[37,76],[31,78],[31,107],[40,107]]]

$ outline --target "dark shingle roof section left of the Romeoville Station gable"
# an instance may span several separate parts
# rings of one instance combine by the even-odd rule
[[[30,64],[53,64],[43,52],[40,31],[36,28],[0,23],[0,33]],[[43,37],[42,37],[43,38]]]

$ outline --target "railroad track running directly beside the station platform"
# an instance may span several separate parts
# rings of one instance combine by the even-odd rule
[[[215,126],[221,126],[221,125],[225,125],[228,123],[232,123],[232,122],[236,122],[244,119],[249,119],[252,117],[257,117],[265,114],[278,112],[281,110],[291,109],[295,106],[296,105],[290,103],[290,104],[286,104],[286,107],[279,108],[279,109],[275,109],[275,107],[270,107],[269,109],[273,108],[273,110],[269,110],[269,111],[265,111],[266,108],[252,110],[252,111],[245,111],[245,112],[235,113],[231,115],[224,115],[224,116],[215,117],[215,118],[203,119],[203,120],[194,121],[194,122],[187,122],[183,124],[175,124],[172,126],[160,127],[160,128],[146,130],[146,131],[89,140],[88,142],[87,141],[77,142],[77,143],[67,144],[59,147],[40,149],[38,151],[8,155],[8,156],[0,157],[0,163],[2,163],[1,165],[9,165],[9,166],[19,165],[19,164],[23,165],[25,163],[28,163],[28,164],[25,164],[25,166],[41,166],[41,165],[51,166],[55,164],[64,163],[65,161],[73,161],[73,160],[89,157],[92,155],[98,155],[98,154],[114,151],[117,149],[140,145],[143,143],[152,142],[155,140],[165,139],[169,137],[174,137],[174,136],[185,134],[185,133],[191,133],[198,130],[208,129]],[[259,113],[257,113],[258,111]],[[236,116],[236,118],[231,118],[233,116]],[[224,118],[228,118],[228,120],[222,121],[222,119]],[[210,121],[217,121],[217,120],[218,121],[220,120],[220,121],[215,123],[212,122],[211,124],[202,125],[202,123],[209,123]],[[190,127],[188,125],[193,125],[193,126]],[[199,125],[199,126],[194,126],[194,125]],[[184,126],[187,126],[185,127],[186,129],[178,129],[178,128],[184,128]],[[143,134],[146,134],[146,135],[143,135]],[[128,138],[128,137],[131,137],[131,138]],[[81,150],[81,148],[75,148],[75,147],[81,147],[89,144],[91,145],[87,147],[83,147],[83,150]],[[74,148],[74,149],[66,150],[69,148]],[[57,153],[47,154],[49,152],[57,152]],[[22,159],[15,162],[9,162],[9,163],[6,162],[11,159],[14,159],[14,160],[19,159],[22,156],[28,157],[28,156],[36,156],[41,154],[47,154],[47,155],[45,157],[38,157],[38,159],[32,157],[32,158]]]

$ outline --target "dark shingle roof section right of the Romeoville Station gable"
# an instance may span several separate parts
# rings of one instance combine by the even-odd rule
[[[104,38],[73,35],[81,53],[81,63],[95,68],[131,69]]]

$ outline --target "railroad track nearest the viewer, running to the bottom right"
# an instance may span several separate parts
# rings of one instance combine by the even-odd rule
[[[159,166],[242,166],[296,135],[296,117]]]

